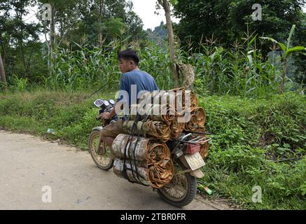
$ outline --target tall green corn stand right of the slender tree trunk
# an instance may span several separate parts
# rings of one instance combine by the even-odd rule
[[[256,48],[257,35],[247,34],[246,45],[235,41],[232,48],[222,48],[211,38],[193,49],[181,48],[179,59],[194,66],[195,89],[198,94],[232,94],[241,96],[265,96],[274,92],[277,68],[263,61]],[[271,91],[272,90],[272,91]]]

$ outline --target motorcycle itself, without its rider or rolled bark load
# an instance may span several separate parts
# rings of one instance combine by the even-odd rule
[[[115,105],[113,99],[97,99],[94,102],[99,108],[98,115],[103,112],[110,112]],[[102,128],[114,121],[118,116],[111,120],[102,120],[101,126],[94,127],[88,140],[88,148],[92,160],[97,167],[109,170],[113,167],[111,148],[102,142],[99,148],[99,133]],[[200,155],[200,144],[206,144],[211,138],[209,133],[202,132],[183,132],[179,139],[167,141],[166,144],[171,151],[171,158],[174,162],[175,172],[172,180],[164,187],[157,190],[158,195],[165,202],[175,207],[184,207],[193,201],[197,193],[197,179],[204,176],[201,168],[205,162]],[[153,190],[155,190],[153,188]]]

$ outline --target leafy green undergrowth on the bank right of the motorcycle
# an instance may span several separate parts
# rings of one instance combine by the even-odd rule
[[[306,209],[305,96],[204,97],[214,134],[202,180],[247,209]],[[263,203],[252,202],[253,186]]]

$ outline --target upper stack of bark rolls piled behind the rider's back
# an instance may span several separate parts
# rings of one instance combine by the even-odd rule
[[[137,114],[136,133],[162,141],[178,139],[183,130],[194,132],[205,123],[205,111],[197,106],[196,94],[183,88],[143,94],[138,104],[131,105],[129,120],[123,124],[126,132],[132,131]]]

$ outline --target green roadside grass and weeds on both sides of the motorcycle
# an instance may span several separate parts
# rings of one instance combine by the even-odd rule
[[[0,94],[0,127],[86,150],[92,127],[99,125],[94,100],[115,94],[89,95],[48,90]],[[306,209],[306,97],[288,92],[266,99],[198,98],[213,137],[205,176],[198,181],[214,194],[199,188],[204,197],[221,197],[242,209]],[[55,134],[46,133],[48,128]],[[252,201],[258,187],[261,203]]]

